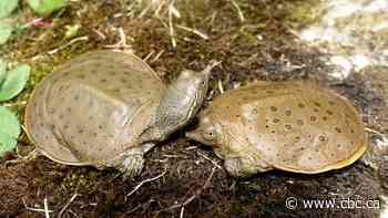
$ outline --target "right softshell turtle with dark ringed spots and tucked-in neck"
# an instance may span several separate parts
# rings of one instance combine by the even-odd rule
[[[213,147],[236,177],[283,169],[317,174],[350,165],[367,148],[357,110],[307,82],[256,82],[221,94],[186,136]]]

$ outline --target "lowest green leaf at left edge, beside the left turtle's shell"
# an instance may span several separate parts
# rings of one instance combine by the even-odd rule
[[[0,106],[0,156],[12,150],[20,135],[18,117],[4,106]]]

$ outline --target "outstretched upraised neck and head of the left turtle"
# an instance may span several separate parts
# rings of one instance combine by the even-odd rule
[[[162,93],[154,123],[144,138],[165,139],[171,133],[186,125],[204,101],[211,70],[218,63],[210,64],[201,72],[183,70]]]

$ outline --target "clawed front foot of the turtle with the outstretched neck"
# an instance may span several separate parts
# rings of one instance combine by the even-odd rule
[[[147,143],[141,147],[133,147],[125,152],[124,160],[120,167],[120,170],[124,173],[125,177],[134,177],[142,172],[144,166],[144,154],[153,146],[154,144]]]

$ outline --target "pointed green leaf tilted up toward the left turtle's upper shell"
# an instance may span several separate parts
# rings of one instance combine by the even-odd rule
[[[7,73],[4,82],[0,86],[0,102],[17,96],[27,83],[30,75],[30,66],[21,64]]]

